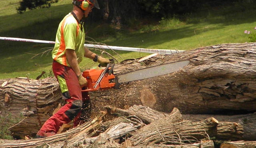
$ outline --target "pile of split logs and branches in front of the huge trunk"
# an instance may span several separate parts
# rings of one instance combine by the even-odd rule
[[[141,117],[150,121],[151,114],[156,116],[156,110],[148,108],[149,112],[144,112],[141,106],[133,106],[131,110],[137,110]],[[177,108],[166,117],[160,117],[153,122],[145,123],[136,116],[134,111],[127,111],[129,116],[115,117],[111,121],[103,122],[105,114],[101,113],[90,122],[86,122],[76,128],[64,133],[41,139],[28,140],[0,140],[0,148],[213,148],[213,136],[223,135],[225,140],[238,137],[242,134],[240,130],[230,130],[234,123],[222,124],[214,118],[204,119],[200,122],[182,120],[182,116]],[[145,116],[144,116],[145,115]],[[149,117],[149,118],[148,118]],[[162,124],[164,121],[165,124]],[[168,122],[172,124],[167,124]],[[228,126],[227,126],[228,125]],[[232,129],[237,126],[232,126]],[[218,129],[221,127],[221,130]],[[221,132],[219,132],[221,131]],[[240,131],[240,132],[239,132]],[[191,134],[189,134],[191,133]],[[236,135],[236,136],[235,136]],[[251,142],[225,142],[232,145],[252,145]],[[225,147],[222,147],[225,148]]]

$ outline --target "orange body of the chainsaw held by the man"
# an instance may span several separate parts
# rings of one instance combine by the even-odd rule
[[[108,68],[110,69],[110,68]],[[100,78],[105,69],[97,67],[95,69],[85,70],[82,76],[87,80],[87,89],[82,90],[82,92],[96,91],[96,90],[106,90],[115,86],[115,75],[112,73],[105,73],[102,80],[94,87],[97,80]]]

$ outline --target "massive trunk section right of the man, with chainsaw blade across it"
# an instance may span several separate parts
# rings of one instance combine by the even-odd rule
[[[95,97],[94,101],[97,105],[123,108],[143,104],[164,112],[177,107],[183,114],[253,112],[256,110],[255,53],[254,43],[220,44],[158,55],[143,64],[126,61],[116,66],[116,73],[175,61],[189,60],[190,63],[176,73],[123,84],[119,90],[99,92],[98,96],[103,97]]]

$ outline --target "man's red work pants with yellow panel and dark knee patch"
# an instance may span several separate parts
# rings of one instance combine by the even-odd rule
[[[51,116],[38,131],[37,136],[52,136],[63,123],[71,122],[82,108],[82,93],[77,75],[71,67],[53,61],[53,73],[57,78],[66,104]]]

